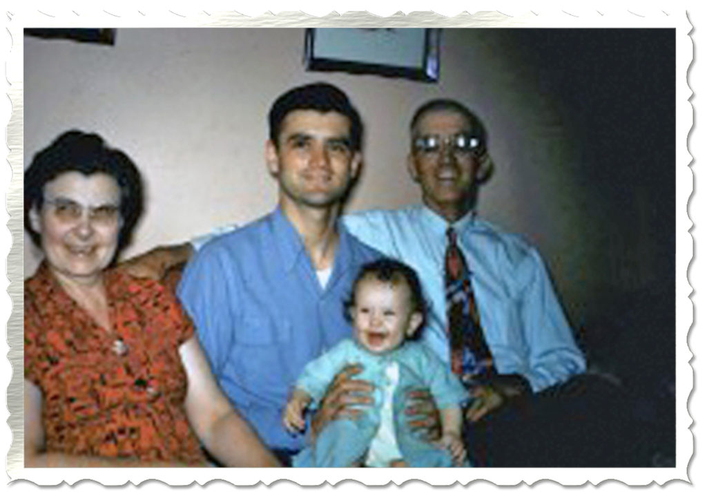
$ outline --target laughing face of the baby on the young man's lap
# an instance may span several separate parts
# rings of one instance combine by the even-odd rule
[[[413,311],[410,289],[405,282],[383,282],[364,277],[356,284],[351,306],[356,340],[375,354],[387,353],[402,345],[422,322]]]

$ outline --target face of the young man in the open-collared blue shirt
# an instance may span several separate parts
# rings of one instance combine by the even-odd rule
[[[361,154],[351,148],[349,117],[317,110],[288,113],[278,143],[267,143],[266,158],[281,201],[308,207],[341,201],[361,165]]]

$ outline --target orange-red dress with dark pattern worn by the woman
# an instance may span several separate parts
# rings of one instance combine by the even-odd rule
[[[112,330],[42,264],[25,281],[25,378],[42,390],[47,451],[203,464],[179,347],[194,333],[158,282],[105,273]]]

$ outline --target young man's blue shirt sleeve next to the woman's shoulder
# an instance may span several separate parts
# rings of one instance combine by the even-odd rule
[[[192,258],[182,275],[177,295],[191,317],[214,375],[221,371],[228,359],[238,316],[233,315],[235,275],[237,267],[228,260],[221,246],[209,246]]]

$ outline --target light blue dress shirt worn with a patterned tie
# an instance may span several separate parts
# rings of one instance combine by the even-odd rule
[[[423,206],[344,217],[349,232],[411,265],[431,305],[422,339],[449,362],[444,255],[448,222]],[[481,326],[499,374],[521,374],[542,391],[586,369],[542,258],[519,236],[472,212],[452,224],[472,271]]]

